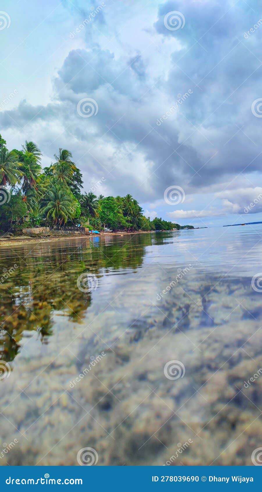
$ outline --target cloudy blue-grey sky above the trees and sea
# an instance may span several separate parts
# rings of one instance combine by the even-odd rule
[[[8,0],[0,133],[195,227],[262,220],[257,0]]]

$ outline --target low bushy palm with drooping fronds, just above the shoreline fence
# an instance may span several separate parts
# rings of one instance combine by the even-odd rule
[[[68,189],[60,184],[51,183],[47,196],[42,204],[41,212],[55,225],[65,224],[74,216],[76,204]]]

